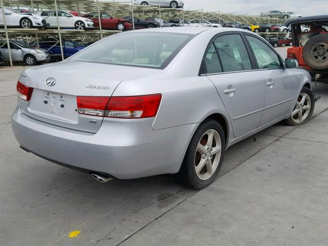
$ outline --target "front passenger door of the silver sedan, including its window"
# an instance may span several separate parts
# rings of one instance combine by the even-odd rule
[[[299,87],[291,69],[284,69],[280,56],[262,38],[246,34],[257,66],[258,76],[264,78],[265,104],[259,126],[288,115],[295,103]],[[295,105],[295,104],[294,104]]]

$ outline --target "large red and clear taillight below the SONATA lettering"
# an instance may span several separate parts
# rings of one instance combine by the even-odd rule
[[[155,117],[161,94],[144,96],[77,96],[79,114],[111,118]]]

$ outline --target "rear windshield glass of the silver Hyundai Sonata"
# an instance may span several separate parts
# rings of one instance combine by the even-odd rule
[[[82,50],[71,60],[163,69],[194,36],[165,32],[116,34]]]

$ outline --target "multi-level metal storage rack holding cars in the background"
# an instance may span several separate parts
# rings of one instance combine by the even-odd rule
[[[22,8],[28,7],[32,10],[67,10],[76,11],[79,14],[84,12],[107,12],[115,17],[135,16],[141,19],[145,18],[162,18],[169,19],[217,19],[229,23],[252,23],[252,24],[283,24],[284,19],[260,17],[248,14],[229,14],[218,12],[204,12],[203,10],[186,10],[186,9],[172,9],[161,8],[153,6],[136,6],[133,5],[133,0],[128,2],[99,2],[98,0],[0,0],[1,7],[7,8]],[[2,8],[3,10],[3,8]],[[5,17],[4,17],[5,18]],[[133,18],[132,18],[133,19]],[[100,22],[99,22],[100,23]],[[134,28],[134,23],[133,23]],[[119,31],[103,30],[101,28],[94,30],[74,30],[74,29],[20,29],[7,28],[5,24],[4,29],[0,29],[0,37],[6,37],[9,47],[9,39],[24,38],[28,36],[38,42],[40,37],[52,37],[58,39],[61,49],[61,56],[63,55],[63,46],[61,44],[62,37],[70,37],[72,39],[80,39],[81,43],[84,40],[98,40],[105,36],[115,34]],[[271,33],[272,34],[272,33]],[[285,35],[283,33],[275,33],[275,35]],[[10,47],[9,54],[10,54]],[[11,55],[10,64],[12,66]]]

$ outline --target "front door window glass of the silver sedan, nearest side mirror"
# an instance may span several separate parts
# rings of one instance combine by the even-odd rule
[[[246,36],[254,52],[259,69],[280,68],[279,56],[262,40],[247,35]]]

